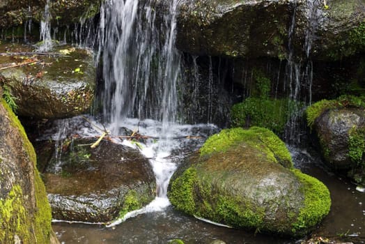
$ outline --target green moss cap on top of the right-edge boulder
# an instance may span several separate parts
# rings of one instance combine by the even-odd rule
[[[365,97],[344,95],[335,100],[320,100],[306,109],[306,123],[313,129],[313,124],[327,109],[341,109],[343,107],[362,107],[365,108]]]

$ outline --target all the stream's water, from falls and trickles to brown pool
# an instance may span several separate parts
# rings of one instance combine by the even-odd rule
[[[164,4],[164,8],[159,8],[164,13],[156,13],[157,4]],[[42,24],[44,31],[41,31],[44,43],[48,38],[50,40],[48,5],[49,0],[45,8],[45,23]],[[179,123],[178,87],[181,55],[175,47],[178,5],[178,0],[168,0],[164,3],[154,0],[143,3],[138,0],[103,1],[96,41],[96,60],[102,60],[103,64],[104,91],[100,100],[103,101],[104,121],[95,123],[100,123],[100,126],[101,123],[106,125],[111,135],[119,135],[122,128],[129,128],[133,131],[138,130],[141,135],[161,138],[157,143],[149,141],[141,146],[141,153],[150,160],[155,172],[155,200],[148,206],[127,213],[108,227],[55,222],[54,230],[62,243],[167,243],[175,238],[183,239],[186,243],[210,243],[217,238],[226,243],[296,243],[298,240],[254,235],[249,231],[218,227],[178,213],[170,206],[166,191],[173,171],[178,167],[179,160],[199,148],[204,139],[192,142],[169,138],[187,135],[205,138],[219,130],[211,124]],[[294,23],[295,15],[290,27],[290,37],[295,29]],[[315,30],[316,26],[311,26],[310,23],[309,28]],[[306,40],[308,58],[312,34],[313,32],[309,32],[309,39]],[[289,40],[289,49],[290,45]],[[287,67],[290,94],[293,100],[299,100],[301,64],[294,61],[293,53],[290,55]],[[196,57],[193,62],[196,65]],[[209,100],[212,100],[211,58],[209,64],[208,94]],[[311,62],[309,65],[306,66],[307,74],[310,74],[310,69],[313,68]],[[199,79],[197,68],[194,70],[194,76]],[[196,89],[199,87],[194,87],[194,91]],[[208,121],[212,120],[212,109],[212,103],[209,102]],[[61,125],[64,126],[65,123]],[[61,137],[61,132],[54,137]],[[96,132],[92,128],[83,128],[77,133],[88,137]],[[295,131],[291,131],[288,137],[293,140],[296,134]],[[137,147],[123,140],[116,143]],[[348,200],[334,198],[336,201],[332,209],[336,210],[336,214],[330,214],[325,219],[318,234],[364,236],[365,210],[362,204],[365,202],[365,196],[355,192],[350,183],[343,183],[343,179],[328,174],[316,155],[298,148],[292,148],[291,151],[297,167],[324,181],[332,195]],[[308,165],[311,166],[307,167]],[[339,219],[345,222],[340,224]]]

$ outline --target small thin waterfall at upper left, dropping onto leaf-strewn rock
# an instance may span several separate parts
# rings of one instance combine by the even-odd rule
[[[43,13],[43,19],[40,22],[40,40],[42,41],[39,50],[41,52],[47,52],[52,49],[52,38],[51,38],[51,20],[52,15],[49,10],[50,0],[47,0],[45,5],[45,13]]]

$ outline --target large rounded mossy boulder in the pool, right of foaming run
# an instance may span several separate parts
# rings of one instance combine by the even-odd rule
[[[257,127],[210,137],[173,175],[169,199],[190,215],[290,236],[316,227],[331,205],[327,187],[293,169],[284,142]]]

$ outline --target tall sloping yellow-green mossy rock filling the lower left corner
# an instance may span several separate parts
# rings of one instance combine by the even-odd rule
[[[0,243],[58,243],[36,153],[3,99],[0,136]]]

